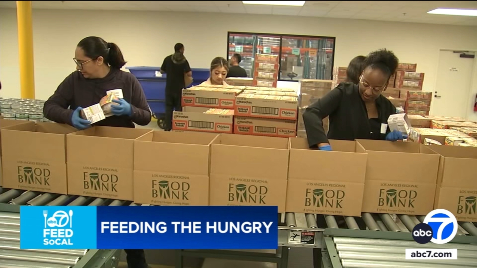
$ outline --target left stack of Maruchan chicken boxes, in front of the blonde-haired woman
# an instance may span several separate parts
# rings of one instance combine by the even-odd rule
[[[174,112],[174,131],[233,132],[235,97],[245,86],[207,85],[182,90],[182,111]]]

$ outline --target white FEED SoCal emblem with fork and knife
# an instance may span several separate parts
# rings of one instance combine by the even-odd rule
[[[68,213],[58,210],[51,217],[48,217],[48,210],[43,210],[43,218],[43,245],[73,245],[73,210]]]

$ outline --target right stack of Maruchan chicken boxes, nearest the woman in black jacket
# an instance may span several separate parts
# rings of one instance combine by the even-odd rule
[[[298,96],[294,90],[246,87],[235,103],[234,134],[296,136]]]

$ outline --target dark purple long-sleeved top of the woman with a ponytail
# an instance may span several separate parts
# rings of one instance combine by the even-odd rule
[[[81,72],[68,75],[58,86],[55,93],[46,101],[43,113],[56,123],[70,124],[73,111],[81,106],[86,108],[99,103],[106,91],[122,89],[124,100],[131,104],[131,116],[110,116],[93,125],[134,127],[134,123],[146,125],[151,122],[151,112],[139,81],[130,72],[117,69],[104,78],[86,79]]]

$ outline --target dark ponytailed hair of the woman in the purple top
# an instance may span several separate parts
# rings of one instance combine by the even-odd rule
[[[83,38],[78,43],[78,47],[83,49],[88,58],[95,60],[98,57],[103,57],[104,63],[109,64],[111,68],[121,69],[126,64],[119,47],[115,43],[104,41],[101,37],[89,36]]]

